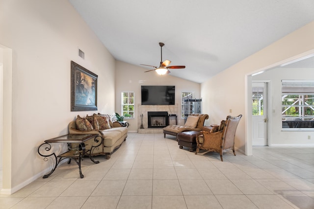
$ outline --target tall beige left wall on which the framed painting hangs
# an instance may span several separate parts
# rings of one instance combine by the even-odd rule
[[[12,111],[4,107],[4,112],[12,113],[11,143],[4,139],[3,147],[13,147],[11,154],[3,153],[11,165],[10,170],[3,169],[7,193],[47,169],[49,163],[37,153],[45,139],[67,134],[68,123],[78,114],[94,113],[70,111],[71,60],[98,75],[96,113],[115,109],[115,60],[66,0],[2,0],[0,45],[13,51]],[[78,48],[85,52],[84,60]]]

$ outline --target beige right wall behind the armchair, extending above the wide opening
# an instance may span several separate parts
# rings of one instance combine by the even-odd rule
[[[240,151],[247,151],[252,142],[250,116],[248,106],[251,102],[248,93],[253,72],[297,58],[314,49],[314,22],[294,31],[247,57],[239,63],[222,71],[201,85],[203,97],[203,112],[209,113],[207,123],[217,123],[227,115],[242,114],[236,136],[235,147]],[[257,40],[258,41],[258,40]],[[229,110],[232,109],[232,113]],[[247,128],[249,127],[249,128]]]

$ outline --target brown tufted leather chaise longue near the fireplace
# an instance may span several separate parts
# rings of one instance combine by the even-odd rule
[[[189,127],[189,126],[185,126],[185,124],[183,126],[180,125],[168,125],[166,127],[163,128],[163,134],[164,134],[164,138],[166,138],[166,134],[178,137],[177,135],[181,132],[185,132],[185,131],[202,131],[202,128],[204,126],[204,122],[206,119],[209,118],[209,116],[207,114],[190,114],[189,116],[198,116],[198,121],[196,124],[196,127]]]

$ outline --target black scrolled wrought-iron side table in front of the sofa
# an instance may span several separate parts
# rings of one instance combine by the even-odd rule
[[[67,134],[60,137],[55,137],[52,139],[45,140],[44,143],[42,143],[38,147],[38,154],[40,156],[44,157],[44,161],[48,161],[49,159],[52,159],[53,161],[53,167],[50,173],[43,176],[43,178],[48,178],[53,171],[56,169],[57,165],[65,160],[68,159],[68,163],[71,163],[71,159],[74,160],[78,164],[78,170],[79,170],[79,176],[80,178],[84,178],[84,175],[82,174],[81,168],[80,168],[80,162],[82,161],[84,155],[89,152],[89,158],[94,163],[99,163],[99,161],[94,161],[94,158],[92,156],[93,151],[96,147],[100,146],[103,142],[103,139],[99,140],[97,139],[100,137],[98,134]],[[89,150],[86,150],[85,148],[85,141],[89,139],[93,139],[95,142],[100,142],[96,146],[92,146]],[[56,154],[60,153],[60,146],[59,150],[52,150],[52,143],[67,143],[68,151],[62,153],[62,154]],[[78,143],[78,147],[72,148],[72,143]],[[57,152],[59,151],[59,152]]]

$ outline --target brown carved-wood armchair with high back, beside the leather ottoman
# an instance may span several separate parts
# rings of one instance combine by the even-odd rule
[[[241,119],[239,116],[227,116],[226,121],[221,121],[219,126],[212,127],[211,131],[201,131],[196,136],[196,152],[197,155],[200,149],[218,152],[222,159],[223,152],[232,149],[235,155],[235,131]]]

